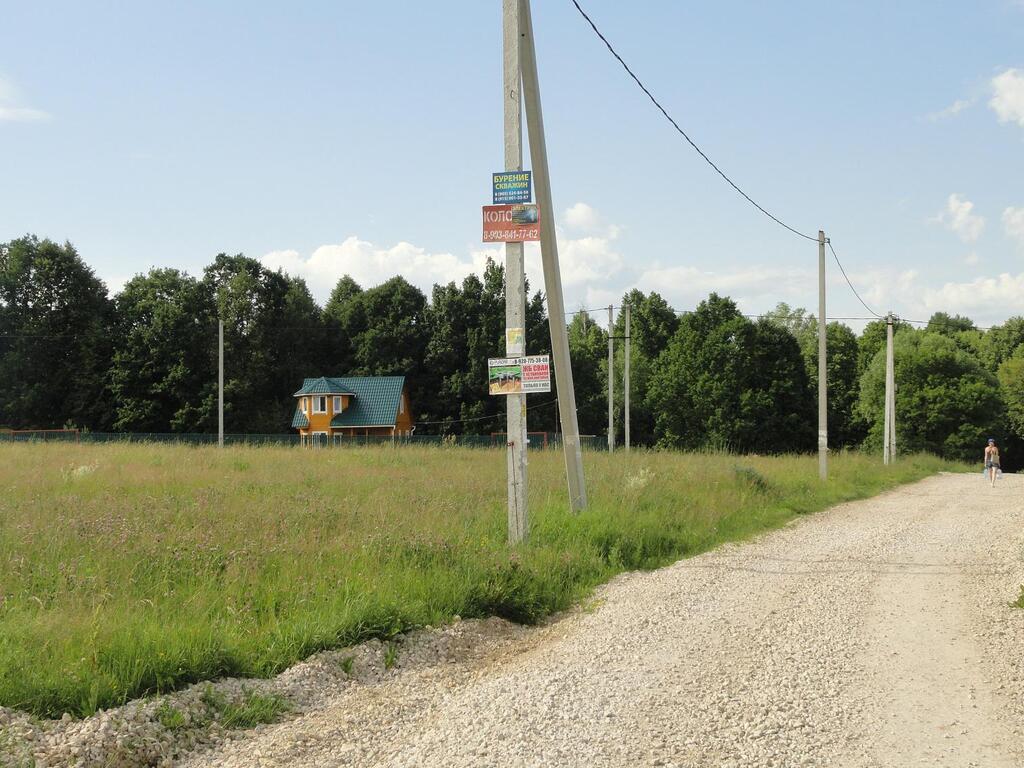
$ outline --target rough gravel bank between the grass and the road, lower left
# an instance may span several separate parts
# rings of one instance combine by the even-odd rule
[[[374,686],[401,670],[465,659],[523,631],[499,618],[456,621],[391,642],[370,640],[316,653],[272,680],[230,678],[199,683],[175,693],[101,710],[84,719],[66,714],[59,720],[39,720],[0,708],[0,765],[165,768],[189,753],[202,754],[252,732],[225,727],[223,711],[254,694],[279,698],[284,705],[281,717],[296,718],[347,689]],[[259,724],[253,731],[266,727]]]

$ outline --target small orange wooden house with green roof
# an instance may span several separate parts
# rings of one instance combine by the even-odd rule
[[[321,376],[295,393],[292,427],[303,442],[408,437],[416,429],[404,376]]]

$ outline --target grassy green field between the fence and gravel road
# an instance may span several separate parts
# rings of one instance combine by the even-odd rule
[[[495,451],[0,444],[0,705],[88,715],[455,614],[535,622],[649,568],[950,468],[835,456],[530,454],[505,545]]]

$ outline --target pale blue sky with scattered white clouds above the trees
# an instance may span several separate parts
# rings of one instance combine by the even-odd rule
[[[740,186],[825,229],[873,309],[1024,313],[1024,2],[584,7]],[[0,241],[116,290],[244,252],[324,300],[479,269],[501,3],[0,2]],[[569,0],[535,0],[566,304],[815,308],[813,243],[690,150]],[[536,253],[529,276],[543,283]],[[829,315],[863,315],[829,264]],[[858,327],[860,324],[851,323]]]

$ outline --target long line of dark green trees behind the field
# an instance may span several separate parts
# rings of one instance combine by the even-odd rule
[[[636,444],[741,453],[813,451],[817,324],[779,304],[752,319],[712,294],[677,312],[630,291],[631,437]],[[0,426],[212,432],[217,325],[224,323],[224,425],[287,432],[307,376],[404,375],[418,434],[504,429],[486,393],[487,357],[504,354],[504,271],[435,285],[401,276],[362,287],[344,275],[321,307],[304,281],[242,254],[202,275],[154,268],[115,296],[63,245],[27,236],[0,244]],[[623,313],[612,329],[622,437]],[[588,313],[568,326],[580,429],[607,433],[607,330]],[[881,449],[884,321],[858,336],[827,325],[829,444]],[[550,350],[544,297],[529,295],[530,353]],[[895,335],[900,450],[977,460],[988,436],[1006,460],[1024,455],[1024,318],[979,330],[938,312]],[[555,382],[557,385],[557,382]],[[531,430],[556,431],[554,394],[529,395]],[[1016,461],[1015,461],[1016,458]]]

